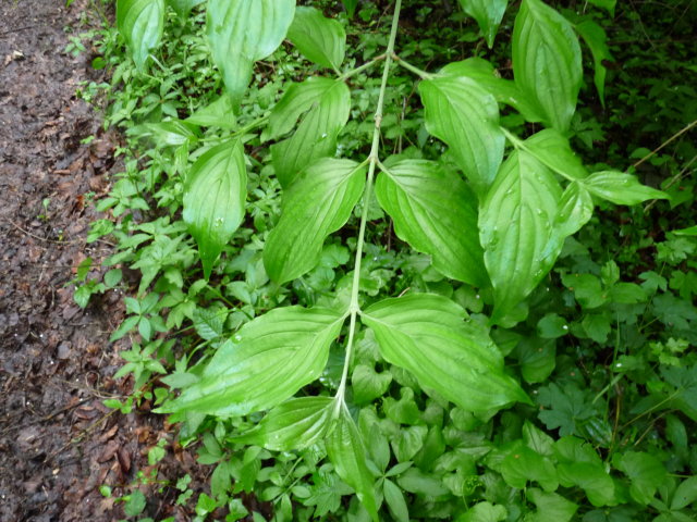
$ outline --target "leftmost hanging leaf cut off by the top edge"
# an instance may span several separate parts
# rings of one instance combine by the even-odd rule
[[[164,0],[118,0],[117,27],[139,70],[162,38]]]

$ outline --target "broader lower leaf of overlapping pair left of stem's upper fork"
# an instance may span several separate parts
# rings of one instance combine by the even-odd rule
[[[337,82],[313,104],[293,136],[271,146],[276,175],[283,187],[314,160],[334,156],[337,136],[346,125],[350,111],[348,87]]]

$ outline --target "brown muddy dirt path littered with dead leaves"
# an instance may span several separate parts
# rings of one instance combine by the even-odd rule
[[[127,383],[111,378],[122,361],[120,347],[108,343],[123,318],[121,296],[93,299],[85,311],[73,301],[75,266],[87,256],[99,261],[110,253],[106,243],[85,241],[96,219],[85,195],[98,198],[109,189],[119,138],[103,133],[99,115],[75,97],[80,82],[95,72],[89,57],[64,51],[65,28],[86,28],[87,2],[64,3],[0,2],[3,522],[119,520],[121,505],[102,498],[98,487],[109,484],[124,495],[120,486],[136,470],[147,472],[147,449],[162,436],[173,438],[161,419],[113,414],[102,405],[127,391]],[[89,145],[81,142],[93,135]],[[160,471],[168,467],[170,476],[182,476],[193,459],[170,451]],[[144,514],[188,520],[174,507],[175,492],[158,498],[155,486],[142,488],[149,499]]]

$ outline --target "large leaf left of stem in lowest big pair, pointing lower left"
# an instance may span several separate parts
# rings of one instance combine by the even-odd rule
[[[159,412],[244,415],[272,408],[321,375],[343,322],[334,310],[271,310],[221,346],[200,381]]]

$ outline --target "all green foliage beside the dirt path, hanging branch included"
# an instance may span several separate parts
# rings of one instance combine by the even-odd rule
[[[196,520],[690,521],[694,2],[120,0],[109,406]],[[643,203],[643,204],[641,204]],[[171,442],[150,450],[156,465]]]

